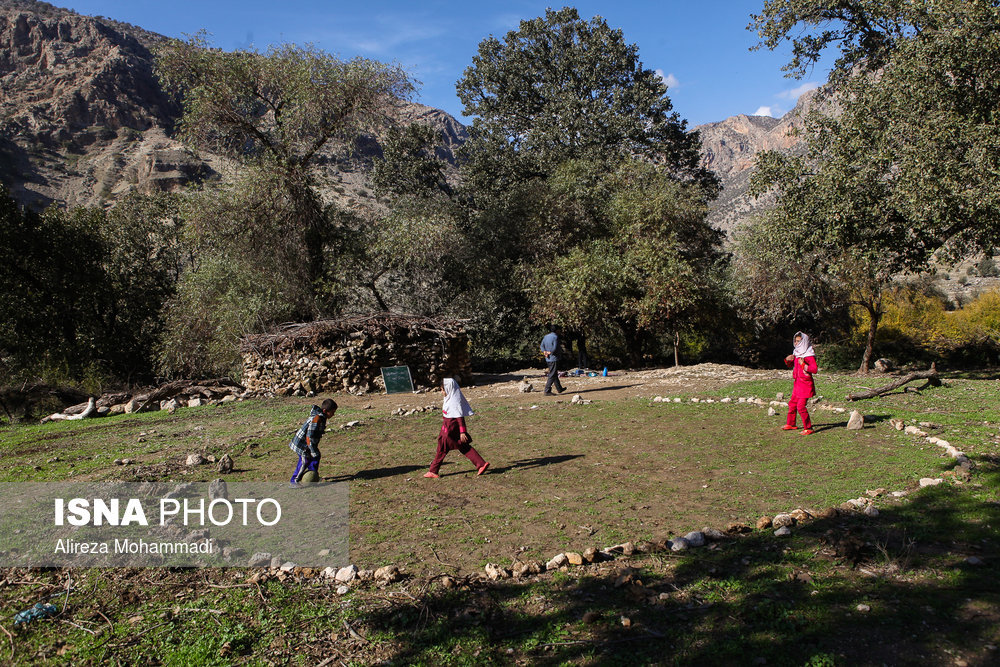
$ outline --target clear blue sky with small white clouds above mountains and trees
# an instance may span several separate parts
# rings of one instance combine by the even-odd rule
[[[132,23],[171,37],[206,30],[215,46],[236,49],[312,43],[343,58],[397,62],[421,82],[416,101],[462,117],[455,82],[479,42],[502,38],[522,19],[562,3],[428,0],[52,0],[80,14]],[[576,2],[581,17],[599,15],[639,47],[643,64],[659,71],[674,109],[691,125],[740,113],[779,117],[798,96],[825,81],[816,70],[784,77],[788,53],[754,51],[746,30],[764,0],[620,0]],[[569,4],[569,3],[567,3]]]

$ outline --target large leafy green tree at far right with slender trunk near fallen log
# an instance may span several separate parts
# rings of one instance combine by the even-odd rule
[[[1000,9],[775,0],[751,27],[768,48],[792,39],[796,75],[839,45],[836,113],[808,118],[805,159],[759,156],[755,187],[777,188],[772,224],[797,234],[799,251],[868,295],[866,371],[880,294],[896,276],[1000,240]]]

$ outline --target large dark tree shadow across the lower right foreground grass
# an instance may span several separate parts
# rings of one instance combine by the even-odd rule
[[[982,489],[998,463],[980,459]],[[995,494],[941,486],[786,539],[433,587],[359,622],[393,664],[997,664],[998,526]]]

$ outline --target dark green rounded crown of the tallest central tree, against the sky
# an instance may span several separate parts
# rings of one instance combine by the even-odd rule
[[[566,160],[630,157],[661,164],[678,179],[715,183],[662,77],[600,17],[549,9],[502,41],[483,40],[457,89],[473,117],[463,154],[477,186],[509,188]]]

